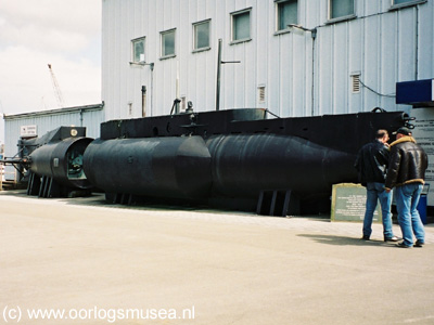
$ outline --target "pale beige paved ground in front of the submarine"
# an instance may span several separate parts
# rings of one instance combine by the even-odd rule
[[[0,324],[434,324],[425,232],[0,192]]]

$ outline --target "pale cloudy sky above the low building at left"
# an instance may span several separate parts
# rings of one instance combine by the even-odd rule
[[[101,0],[0,0],[0,113],[101,102]],[[3,138],[0,123],[0,143]]]

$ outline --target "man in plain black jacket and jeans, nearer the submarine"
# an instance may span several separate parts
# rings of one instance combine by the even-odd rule
[[[384,181],[388,166],[388,133],[378,130],[375,140],[361,147],[355,164],[360,183],[367,187],[367,200],[363,218],[362,239],[369,240],[372,234],[372,219],[380,200],[384,242],[397,242],[392,230],[392,194],[384,190]]]

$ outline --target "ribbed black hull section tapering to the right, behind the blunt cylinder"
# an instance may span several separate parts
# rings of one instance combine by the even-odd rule
[[[222,135],[209,139],[213,193],[257,198],[261,191],[327,194],[333,184],[357,181],[355,156],[298,136]]]

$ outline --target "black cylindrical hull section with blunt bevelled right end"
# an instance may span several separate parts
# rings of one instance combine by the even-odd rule
[[[212,185],[210,155],[201,136],[95,140],[85,172],[106,193],[196,199]]]

